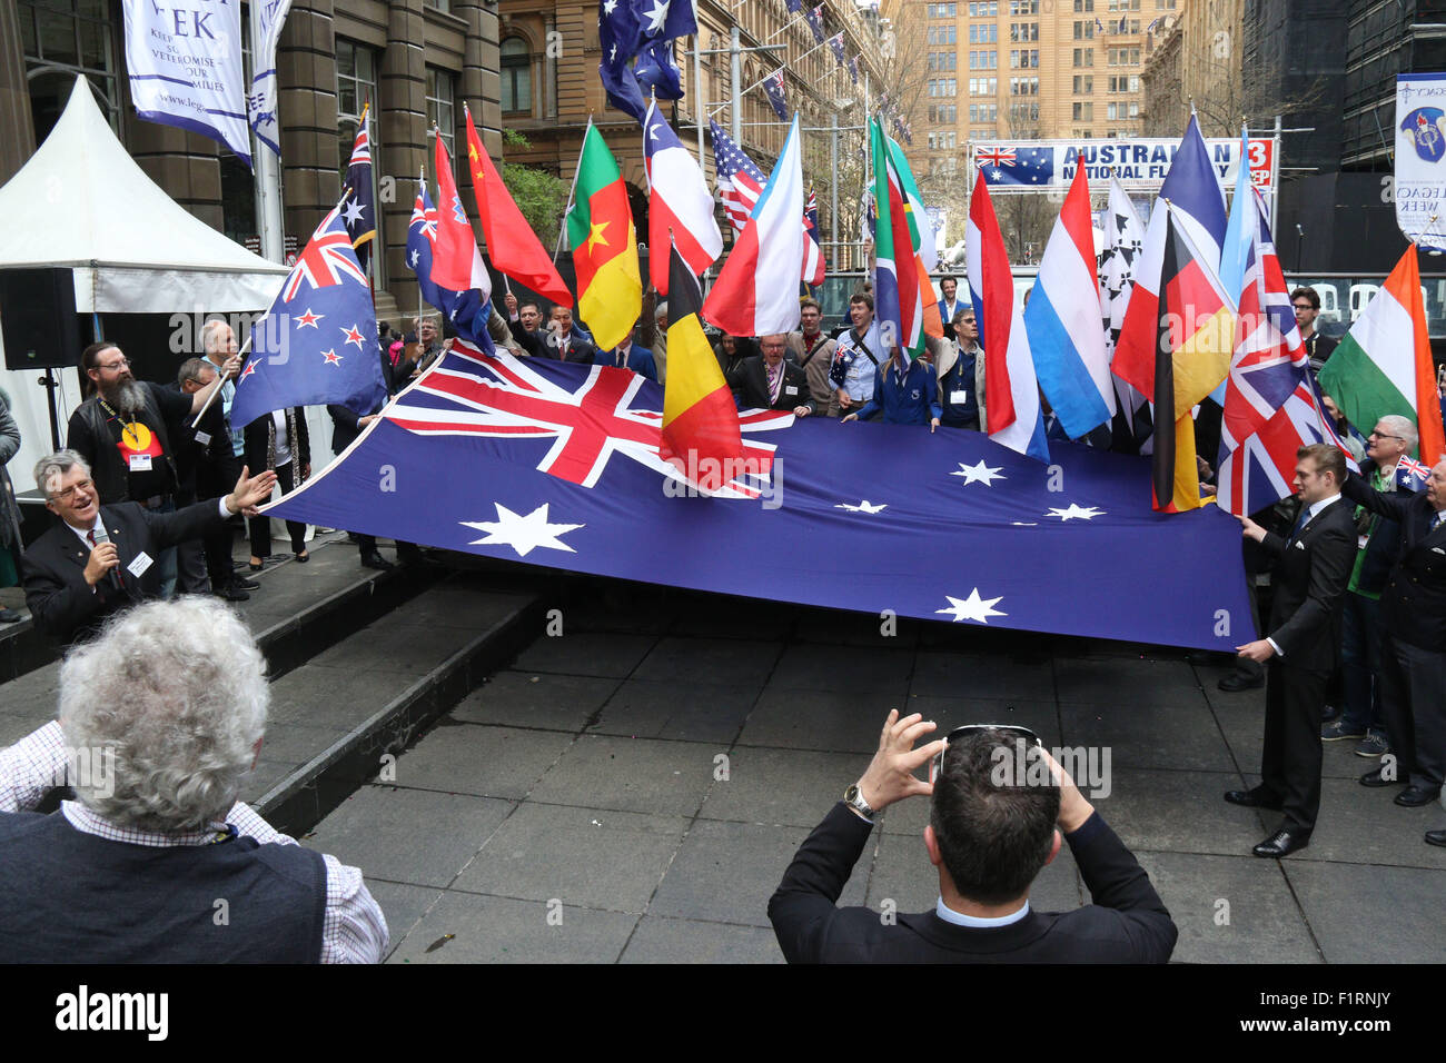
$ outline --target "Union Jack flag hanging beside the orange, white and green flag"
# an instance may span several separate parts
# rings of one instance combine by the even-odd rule
[[[1258,513],[1294,493],[1296,451],[1303,445],[1329,443],[1358,469],[1323,412],[1265,202],[1258,191],[1254,195],[1258,226],[1245,259],[1216,473],[1216,502],[1236,516]]]

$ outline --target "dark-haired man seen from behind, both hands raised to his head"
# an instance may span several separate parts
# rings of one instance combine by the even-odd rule
[[[1150,876],[1038,739],[1015,727],[962,727],[914,749],[933,729],[918,713],[901,720],[891,712],[869,769],[784,872],[768,917],[790,963],[1170,959],[1177,930]],[[1027,761],[1024,778],[999,774],[1001,754]],[[914,772],[931,759],[930,784]],[[836,907],[875,814],[914,794],[933,795],[924,845],[938,868],[934,910],[889,923],[868,908]],[[1098,904],[1032,911],[1030,885],[1058,853],[1060,832]]]

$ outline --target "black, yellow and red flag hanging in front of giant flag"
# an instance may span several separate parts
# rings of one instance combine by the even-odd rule
[[[662,393],[658,456],[693,486],[719,490],[740,469],[743,435],[737,406],[703,334],[698,278],[669,240],[668,382]]]

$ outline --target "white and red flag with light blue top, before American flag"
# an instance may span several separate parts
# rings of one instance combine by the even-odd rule
[[[703,317],[733,336],[772,336],[798,327],[804,260],[804,171],[798,116],[743,233],[703,302]]]

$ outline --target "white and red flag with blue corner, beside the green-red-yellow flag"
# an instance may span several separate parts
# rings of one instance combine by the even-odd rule
[[[642,121],[643,163],[648,169],[648,275],[659,294],[668,294],[668,256],[672,246],[697,276],[723,253],[723,234],[713,217],[713,194],[697,159],[683,146],[656,101]]]

